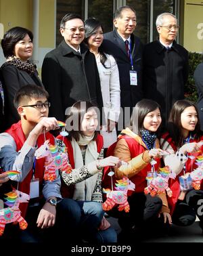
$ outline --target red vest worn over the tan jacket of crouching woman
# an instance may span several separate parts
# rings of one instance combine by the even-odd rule
[[[128,146],[129,146],[129,150],[131,152],[131,159],[134,158],[135,156],[138,156],[139,154],[145,152],[145,148],[143,146],[141,146],[133,137],[130,137],[129,135],[121,135],[118,140],[120,139],[124,139]],[[117,140],[117,142],[118,142]],[[117,142],[114,142],[114,144],[112,144],[112,146],[110,146],[108,148],[107,151],[107,156],[113,156],[114,155],[114,148],[116,147]],[[160,159],[156,158],[156,165],[155,165],[155,169],[156,171],[158,170],[158,167],[160,166]],[[133,182],[135,184],[135,192],[143,192],[144,188],[147,186],[147,182],[146,182],[146,176],[148,171],[151,171],[152,165],[150,165],[150,163],[143,168],[141,171],[139,171],[139,173],[137,173],[136,175],[134,175],[133,177],[131,177],[131,182]],[[110,167],[106,167],[104,169],[104,175],[103,175],[103,179],[102,179],[102,188],[110,188],[112,189],[112,185],[111,185],[111,178],[110,176],[108,176],[108,173],[110,172]],[[116,177],[115,175],[112,176],[113,178],[113,184],[116,183]],[[131,195],[135,192],[129,191],[128,195]]]

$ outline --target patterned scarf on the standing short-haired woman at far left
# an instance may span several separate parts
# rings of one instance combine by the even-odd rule
[[[34,74],[34,72],[36,70],[36,65],[32,64],[29,60],[26,60],[25,62],[23,62],[19,58],[16,58],[16,56],[7,58],[7,62],[5,62],[1,66],[1,68],[8,66],[8,65],[16,66],[16,68],[18,68],[20,70],[24,70],[24,71],[28,72],[28,74],[30,74],[30,75]]]

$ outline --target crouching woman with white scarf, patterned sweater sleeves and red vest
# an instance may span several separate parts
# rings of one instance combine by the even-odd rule
[[[67,148],[71,165],[70,171],[61,172],[62,196],[73,198],[81,207],[81,227],[86,239],[116,242],[116,232],[104,218],[101,207],[101,177],[103,167],[114,167],[119,158],[103,158],[103,137],[97,131],[96,110],[89,102],[76,102],[66,119],[68,136],[58,136]]]

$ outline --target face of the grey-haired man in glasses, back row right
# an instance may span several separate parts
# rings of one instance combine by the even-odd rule
[[[177,36],[177,30],[174,27],[168,30],[165,26],[177,26],[177,20],[171,15],[166,15],[163,17],[162,26],[157,26],[160,41],[171,44]]]

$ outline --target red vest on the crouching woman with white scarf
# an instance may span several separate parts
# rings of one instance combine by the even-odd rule
[[[62,135],[58,135],[57,138],[60,139],[60,140],[63,140],[63,138],[64,138],[64,144],[66,145],[66,148],[67,148],[69,162],[70,162],[70,165],[71,165],[72,169],[74,169],[74,156],[73,156],[73,149],[72,149],[72,145],[71,145],[70,140],[68,140],[67,137],[62,137]],[[101,148],[104,145],[103,137],[98,134],[95,142],[97,144],[97,152],[100,153]],[[62,179],[62,186],[61,186],[62,196],[64,198],[72,198],[73,192],[74,192],[74,185],[67,186],[66,183]]]

